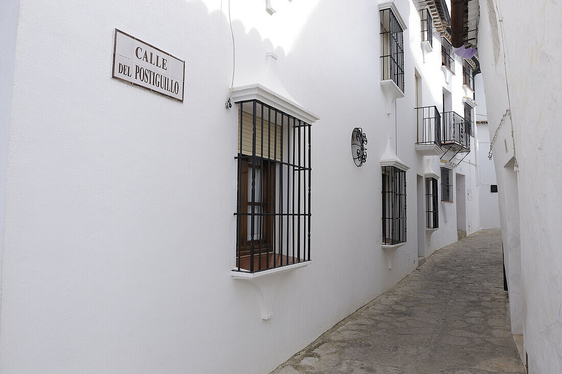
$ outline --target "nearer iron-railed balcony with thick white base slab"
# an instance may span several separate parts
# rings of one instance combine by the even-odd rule
[[[416,151],[423,156],[438,156],[441,150],[441,115],[436,106],[415,108]]]

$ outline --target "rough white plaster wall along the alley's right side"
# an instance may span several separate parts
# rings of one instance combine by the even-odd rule
[[[490,133],[508,106],[504,74],[507,72],[515,145],[519,173],[517,176],[520,212],[520,263],[522,267],[523,332],[529,354],[529,371],[562,372],[562,201],[559,184],[562,167],[558,160],[562,130],[559,93],[562,76],[558,73],[562,59],[560,19],[562,3],[553,1],[481,1],[479,52],[488,100]],[[496,5],[496,6],[494,6]],[[493,13],[496,13],[494,16]],[[522,16],[525,15],[525,16]],[[495,19],[502,19],[504,40]],[[537,71],[552,71],[540,74]],[[513,156],[508,122],[498,133],[494,146],[500,188],[514,188],[500,169]],[[506,133],[507,132],[507,133]],[[504,150],[507,139],[509,152]],[[497,156],[496,156],[497,155]],[[508,165],[509,166],[509,165]],[[501,190],[500,190],[501,191]],[[501,198],[501,196],[500,196]],[[500,202],[505,242],[516,244],[517,233],[509,226],[516,201]],[[516,255],[510,248],[509,255]],[[509,263],[513,265],[510,259]],[[511,287],[511,285],[510,285]],[[513,311],[512,311],[513,313]],[[513,318],[513,316],[512,316]]]

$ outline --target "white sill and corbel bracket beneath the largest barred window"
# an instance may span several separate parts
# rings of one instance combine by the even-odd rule
[[[243,280],[250,283],[260,292],[261,318],[270,319],[273,317],[273,302],[275,294],[281,282],[296,269],[306,267],[310,261],[303,261],[291,265],[285,265],[274,269],[264,270],[257,273],[237,271],[233,269],[230,275],[235,280]]]

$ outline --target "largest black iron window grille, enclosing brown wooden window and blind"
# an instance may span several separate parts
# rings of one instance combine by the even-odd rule
[[[238,105],[237,270],[310,260],[310,124],[257,100]]]

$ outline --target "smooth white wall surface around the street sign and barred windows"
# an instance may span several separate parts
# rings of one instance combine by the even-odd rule
[[[0,371],[268,372],[415,269],[425,163],[414,150],[414,68],[423,104],[441,109],[445,85],[460,114],[461,74],[445,83],[437,37],[423,62],[417,10],[397,1],[409,24],[406,96],[387,115],[377,3],[273,6],[270,16],[261,0],[231,3],[234,85],[255,79],[274,51],[288,92],[321,119],[312,127],[312,263],[280,285],[264,321],[257,292],[230,276],[237,114],[224,109],[227,3],[21,0]],[[184,103],[111,78],[114,28],[185,60]],[[357,124],[369,137],[361,168],[350,157]],[[392,269],[380,247],[389,135],[411,167],[409,240]],[[433,165],[439,173],[438,157]],[[457,172],[475,189],[473,165]],[[440,208],[426,255],[456,241],[455,204]]]

